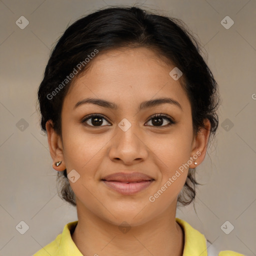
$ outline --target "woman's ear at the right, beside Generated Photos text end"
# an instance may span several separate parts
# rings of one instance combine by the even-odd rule
[[[192,141],[192,149],[191,149],[192,158],[190,157],[190,159],[192,161],[197,162],[197,164],[194,164],[194,162],[192,162],[192,164],[190,164],[191,166],[189,166],[190,168],[194,168],[198,166],[203,161],[206,154],[206,150],[207,150],[209,135],[210,135],[210,121],[209,119],[204,119],[204,127],[200,128],[197,134],[195,134],[194,139]]]

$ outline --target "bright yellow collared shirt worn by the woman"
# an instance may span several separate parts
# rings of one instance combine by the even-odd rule
[[[72,240],[70,230],[74,230],[78,220],[67,223],[61,234],[33,256],[83,256]],[[186,221],[176,218],[176,222],[183,228],[185,235],[183,256],[211,256],[207,252],[206,238],[198,230],[190,226]],[[243,254],[223,250],[218,255],[212,256],[244,256]]]

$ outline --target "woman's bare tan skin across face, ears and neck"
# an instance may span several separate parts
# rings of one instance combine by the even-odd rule
[[[53,168],[67,173],[75,169],[80,178],[70,182],[76,195],[78,224],[72,239],[83,255],[182,255],[184,234],[175,222],[177,195],[182,189],[188,168],[155,199],[149,201],[182,163],[200,151],[190,168],[204,159],[210,123],[195,136],[191,106],[166,64],[150,49],[122,48],[99,53],[90,68],[69,88],[61,112],[62,134],[47,121],[49,149]],[[108,109],[95,104],[75,104],[86,97],[105,99],[117,104]],[[142,101],[171,97],[179,102],[164,103],[137,111]],[[88,114],[106,117],[101,126]],[[153,114],[164,113],[161,127],[152,122]],[[107,119],[108,118],[108,119]],[[126,118],[131,126],[123,131],[118,123]],[[111,124],[111,125],[108,125]],[[92,125],[92,126],[89,126]],[[62,161],[59,166],[54,162]],[[143,172],[155,180],[134,195],[122,195],[108,188],[101,179],[119,171]],[[126,233],[118,228],[125,221]]]

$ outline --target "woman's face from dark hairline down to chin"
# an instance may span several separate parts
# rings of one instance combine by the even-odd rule
[[[57,141],[53,158],[56,152],[62,157],[62,169],[74,181],[69,183],[77,214],[131,226],[175,214],[188,165],[195,167],[190,157],[202,160],[198,151],[206,140],[193,136],[189,100],[180,80],[169,75],[174,65],[143,47],[107,51],[91,64],[64,98],[61,138],[54,131],[49,138],[49,143]],[[169,101],[142,103],[158,98]],[[116,176],[103,180],[117,172],[124,174],[117,175],[119,181],[113,180]],[[123,182],[132,181],[134,175],[128,174],[135,172],[147,180],[136,174],[137,181],[143,180]]]

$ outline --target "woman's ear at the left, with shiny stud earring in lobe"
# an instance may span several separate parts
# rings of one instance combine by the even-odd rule
[[[63,146],[61,137],[56,131],[53,129],[53,124],[51,120],[48,120],[45,123],[47,137],[48,137],[48,144],[50,149],[50,156],[53,160],[52,167],[55,170],[62,171],[65,167],[64,157],[63,157]],[[56,166],[55,162],[61,161],[61,164]]]

